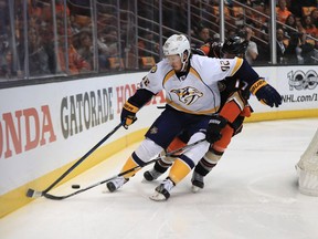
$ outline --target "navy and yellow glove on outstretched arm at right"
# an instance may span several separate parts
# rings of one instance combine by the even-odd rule
[[[278,107],[282,104],[280,94],[269,85],[264,79],[259,79],[251,86],[251,93],[256,95],[257,100],[271,107]]]

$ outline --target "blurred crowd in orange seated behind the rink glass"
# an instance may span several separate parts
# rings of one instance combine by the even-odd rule
[[[277,64],[317,64],[317,0],[275,11]],[[269,15],[269,0],[224,1],[224,35],[250,41],[252,65],[273,64]],[[221,41],[221,20],[220,0],[2,0],[0,83],[148,70],[172,33],[193,48]]]

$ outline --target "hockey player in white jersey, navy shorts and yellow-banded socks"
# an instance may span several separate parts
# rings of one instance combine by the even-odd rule
[[[136,113],[161,90],[166,91],[167,105],[161,115],[153,122],[146,138],[131,154],[121,172],[142,167],[148,160],[167,148],[172,139],[187,129],[190,134],[188,144],[202,138],[208,126],[226,124],[223,117],[213,115],[220,107],[218,81],[237,75],[257,87],[256,95],[269,105],[282,104],[278,92],[264,81],[243,59],[212,59],[191,55],[190,43],[182,34],[171,35],[163,45],[165,59],[153,66],[142,79],[140,89],[125,103],[120,118],[127,128],[137,117]],[[210,122],[213,115],[213,121]],[[216,138],[215,138],[216,141]],[[181,181],[208,150],[210,143],[203,142],[190,148],[174,160],[169,176],[155,189],[150,197],[153,200],[167,200],[170,190]],[[139,168],[140,169],[140,168]],[[129,180],[139,169],[107,183],[109,191],[115,191]]]

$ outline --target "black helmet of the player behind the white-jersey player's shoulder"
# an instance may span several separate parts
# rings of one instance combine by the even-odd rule
[[[248,41],[235,35],[224,41],[222,52],[227,54],[245,54]]]

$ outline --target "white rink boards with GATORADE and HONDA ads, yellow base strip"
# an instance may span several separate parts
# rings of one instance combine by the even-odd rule
[[[247,122],[318,117],[317,66],[255,67],[283,97],[279,108],[252,96]],[[146,72],[0,90],[0,217],[30,202],[119,123],[125,101]],[[40,93],[40,94],[39,94]],[[144,137],[162,110],[161,92],[65,180]],[[63,181],[62,181],[63,183]]]

